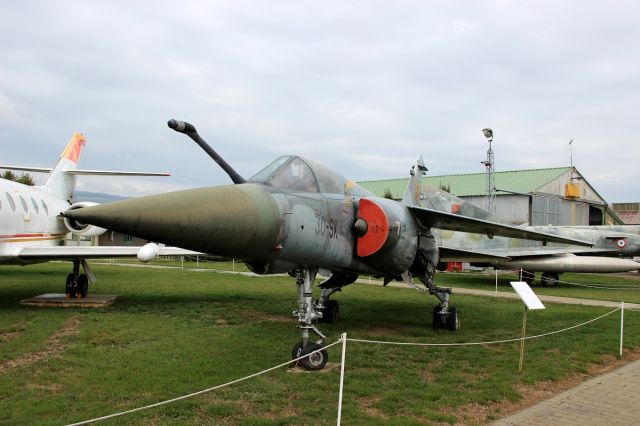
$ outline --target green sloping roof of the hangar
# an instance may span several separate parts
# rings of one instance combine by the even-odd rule
[[[571,167],[555,167],[549,169],[514,170],[508,172],[496,172],[496,195],[508,192],[528,194],[535,192],[560,175],[567,173]],[[427,176],[424,179],[425,185],[433,188],[445,187],[449,192],[459,197],[485,195],[486,191],[485,173],[469,173],[449,176]],[[395,199],[402,198],[407,188],[409,178],[386,179],[358,182],[360,186],[368,189],[377,196],[384,196],[391,192]]]

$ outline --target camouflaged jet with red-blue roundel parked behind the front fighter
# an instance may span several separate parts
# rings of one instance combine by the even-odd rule
[[[507,223],[439,189],[424,189],[421,205]],[[630,259],[640,255],[640,226],[525,226],[523,229],[590,241],[593,247],[543,245],[539,241],[442,231],[437,234],[440,262],[470,262],[476,266],[522,269],[522,279],[529,284],[534,281],[533,271],[542,272],[540,282],[548,287],[555,286],[563,272],[614,273],[640,269],[640,263]]]

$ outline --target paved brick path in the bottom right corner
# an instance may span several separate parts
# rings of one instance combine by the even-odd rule
[[[640,424],[640,361],[583,382],[492,423],[506,425]]]

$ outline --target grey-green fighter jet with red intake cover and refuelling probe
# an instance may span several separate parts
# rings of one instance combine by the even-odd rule
[[[242,259],[257,274],[288,272],[298,287],[298,321],[302,339],[293,357],[321,369],[327,352],[318,321],[334,322],[338,303],[330,296],[368,274],[404,281],[417,277],[440,301],[433,313],[435,328],[458,328],[451,289],[433,283],[439,249],[435,229],[449,229],[544,242],[575,239],[420,206],[422,157],[411,170],[402,202],[375,197],[324,164],[307,157],[283,156],[249,180],[241,177],[198,135],[193,125],[170,120],[172,129],[198,143],[229,175],[233,185],[189,189],[128,199],[63,212],[82,222],[213,255]],[[316,275],[325,276],[313,299]],[[317,339],[311,339],[315,333]]]

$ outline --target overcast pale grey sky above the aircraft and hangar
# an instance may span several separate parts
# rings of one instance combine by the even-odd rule
[[[80,177],[136,196],[229,183],[193,123],[249,177],[282,154],[354,180],[568,166],[640,201],[636,1],[0,3],[0,163],[51,166],[75,131]]]

